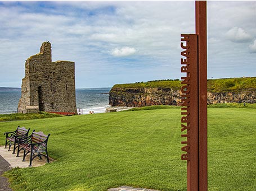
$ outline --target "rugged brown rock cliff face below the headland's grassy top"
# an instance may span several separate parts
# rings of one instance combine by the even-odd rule
[[[256,91],[208,92],[208,104],[256,103]],[[113,87],[109,93],[111,106],[181,105],[181,91],[172,88]]]

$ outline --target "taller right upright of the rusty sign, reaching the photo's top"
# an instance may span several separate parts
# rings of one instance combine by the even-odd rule
[[[196,1],[199,72],[199,190],[207,190],[207,27],[206,1]]]

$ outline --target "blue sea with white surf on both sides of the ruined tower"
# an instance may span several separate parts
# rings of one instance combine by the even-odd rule
[[[109,105],[111,87],[83,88],[75,91],[77,110],[80,114],[105,113]],[[0,91],[0,114],[17,112],[21,91]]]

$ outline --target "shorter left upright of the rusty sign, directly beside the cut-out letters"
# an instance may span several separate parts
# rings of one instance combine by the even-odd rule
[[[196,34],[190,34],[189,36],[189,55],[187,57],[189,78],[189,93],[187,100],[189,100],[188,108],[188,123],[187,129],[188,144],[190,145],[189,160],[187,160],[187,190],[194,191],[199,190],[199,159],[198,159],[198,140],[199,140],[199,69],[198,69],[198,49],[197,41],[198,36]]]

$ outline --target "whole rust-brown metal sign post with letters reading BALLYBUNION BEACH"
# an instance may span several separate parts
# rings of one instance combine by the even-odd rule
[[[207,190],[206,1],[196,1],[196,34],[181,35],[182,160],[187,161],[187,190]]]

